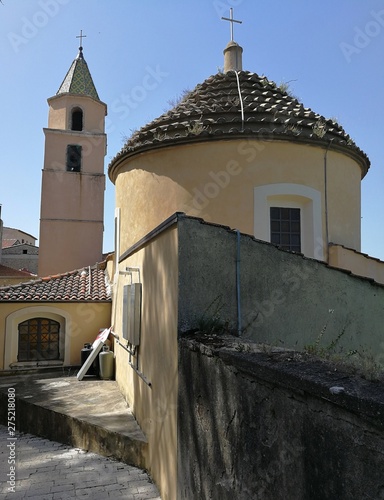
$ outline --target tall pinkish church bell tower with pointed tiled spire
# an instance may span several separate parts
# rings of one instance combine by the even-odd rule
[[[80,34],[80,40],[85,35]],[[48,99],[44,128],[39,276],[102,260],[105,116],[83,48],[56,95]]]

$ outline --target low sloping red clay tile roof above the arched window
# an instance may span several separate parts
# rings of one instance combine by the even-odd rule
[[[18,285],[0,287],[0,302],[110,302],[104,270],[78,269]]]

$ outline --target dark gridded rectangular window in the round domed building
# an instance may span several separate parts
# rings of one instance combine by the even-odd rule
[[[271,207],[271,243],[301,252],[300,208]]]

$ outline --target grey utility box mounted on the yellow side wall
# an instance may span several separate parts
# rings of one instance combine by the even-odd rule
[[[123,338],[133,346],[140,344],[141,283],[123,288]]]

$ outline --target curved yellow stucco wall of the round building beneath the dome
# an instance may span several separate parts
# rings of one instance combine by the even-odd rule
[[[257,140],[201,142],[134,155],[113,173],[116,206],[129,227],[122,234],[121,250],[176,211],[258,237],[254,188],[277,183],[320,193],[326,248],[324,156],[324,148],[317,146]],[[360,167],[332,150],[326,163],[329,238],[359,250]]]

